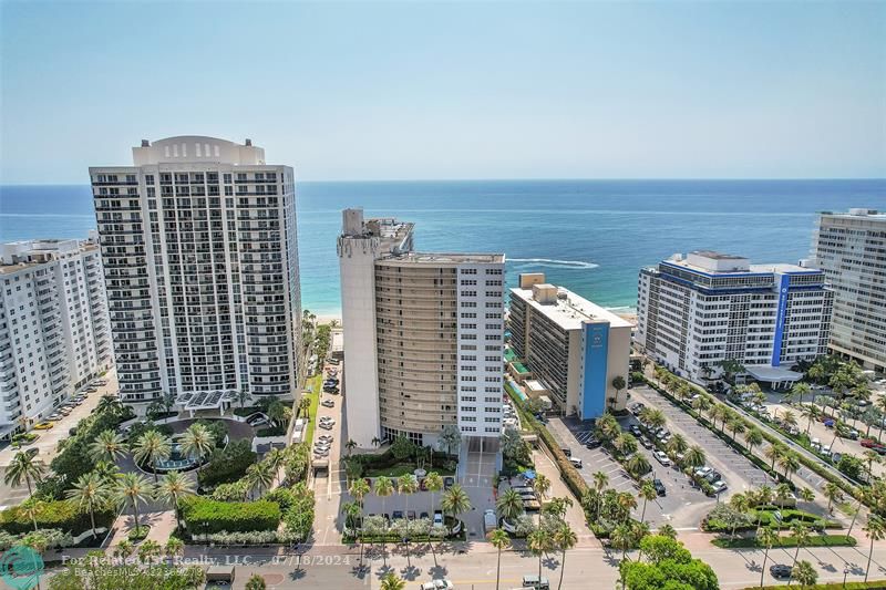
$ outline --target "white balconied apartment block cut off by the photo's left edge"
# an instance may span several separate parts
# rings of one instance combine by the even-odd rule
[[[96,239],[0,245],[0,438],[113,364]]]

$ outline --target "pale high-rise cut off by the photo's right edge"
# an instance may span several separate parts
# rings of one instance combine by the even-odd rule
[[[886,214],[823,213],[812,250],[836,294],[831,349],[886,372]]]

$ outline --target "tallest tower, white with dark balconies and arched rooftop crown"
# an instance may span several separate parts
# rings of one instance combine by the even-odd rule
[[[265,151],[181,136],[90,168],[123,402],[224,408],[291,397],[299,364],[292,168]]]

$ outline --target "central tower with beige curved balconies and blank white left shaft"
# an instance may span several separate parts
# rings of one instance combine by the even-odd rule
[[[502,426],[504,255],[420,253],[413,225],[346,209],[338,239],[348,436],[435,444]]]

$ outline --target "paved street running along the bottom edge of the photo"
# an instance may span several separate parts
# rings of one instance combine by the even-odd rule
[[[709,536],[702,534],[684,534],[680,539],[687,544],[692,553],[709,563],[718,577],[723,589],[732,590],[753,587],[760,583],[760,565],[763,561],[763,551],[754,549],[725,550],[712,547]],[[459,589],[473,588],[475,590],[491,590],[495,588],[495,549],[488,544],[464,545],[466,552],[460,553],[455,545],[443,545],[436,550],[436,557],[427,547],[413,546],[409,560],[402,547],[388,546],[388,553],[383,560],[379,549],[369,552],[367,565],[371,568],[360,575],[358,547],[313,547],[303,557],[293,555],[276,556],[272,549],[254,549],[237,552],[223,549],[206,549],[189,547],[187,559],[200,559],[204,563],[213,560],[220,563],[237,566],[237,582],[235,589],[245,588],[245,582],[253,572],[265,576],[268,588],[271,589],[299,589],[321,588],[329,590],[347,590],[359,588],[379,588],[379,578],[392,568],[409,580],[408,588],[418,587],[419,582],[429,580],[432,576],[445,577],[455,583]],[[282,551],[280,551],[282,553]],[[66,555],[76,555],[74,551]],[[631,556],[629,553],[629,557]],[[610,552],[599,547],[580,547],[566,555],[564,571],[565,589],[614,588],[618,578],[618,562],[620,553]],[[820,581],[842,581],[843,569],[849,567],[849,581],[861,581],[867,563],[867,552],[864,546],[859,548],[836,549],[803,549],[801,559],[813,563],[818,571]],[[770,551],[772,560],[791,563],[793,551],[774,549]],[[301,561],[301,569],[298,563]],[[769,567],[767,563],[767,567]],[[560,572],[560,556],[547,556],[542,561],[543,575],[556,584]],[[517,550],[505,551],[502,555],[502,588],[519,586],[523,575],[534,573],[538,569],[538,560],[518,547]],[[872,562],[872,578],[886,577],[886,542],[879,542],[874,549]],[[769,572],[765,575],[766,583],[777,583]]]

